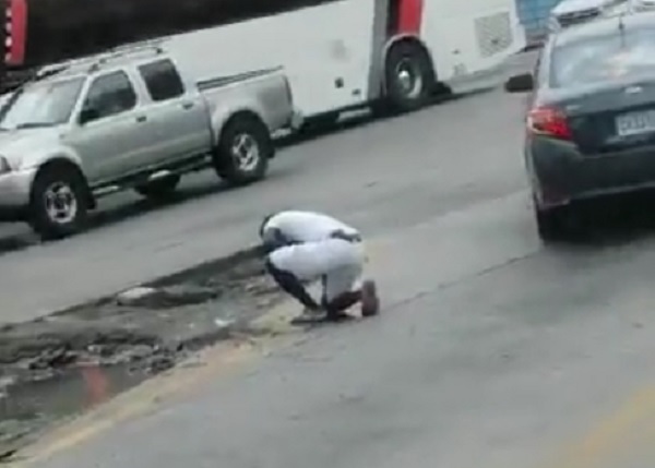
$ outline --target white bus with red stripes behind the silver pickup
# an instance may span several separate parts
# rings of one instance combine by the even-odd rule
[[[231,77],[284,67],[320,120],[487,86],[525,46],[516,0],[3,1],[10,70],[165,37],[200,79],[216,61]]]

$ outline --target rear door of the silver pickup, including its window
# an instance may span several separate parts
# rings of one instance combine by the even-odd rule
[[[184,89],[170,59],[158,59],[138,69],[152,100],[148,110],[157,133],[157,161],[206,153],[212,131],[199,92]]]

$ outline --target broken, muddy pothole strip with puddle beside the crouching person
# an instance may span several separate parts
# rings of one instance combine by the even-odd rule
[[[281,298],[249,250],[0,328],[0,460],[61,418],[248,334]]]

